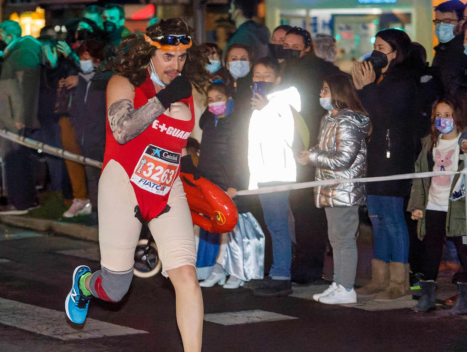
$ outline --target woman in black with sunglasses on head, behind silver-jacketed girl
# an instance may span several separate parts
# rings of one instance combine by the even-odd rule
[[[342,73],[332,63],[324,61],[311,50],[310,33],[302,28],[290,29],[284,38],[285,71],[282,83],[296,87],[301,97],[301,111],[308,128],[309,145],[303,145],[296,129],[294,150],[304,150],[318,143],[321,118],[326,111],[320,106],[317,97],[323,87],[324,77]],[[315,168],[312,165],[297,165],[297,182],[314,181]],[[290,192],[290,207],[295,218],[297,248],[292,258],[292,282],[322,283],[327,222],[324,209],[305,206],[313,198],[313,190]],[[310,233],[313,228],[313,234]]]

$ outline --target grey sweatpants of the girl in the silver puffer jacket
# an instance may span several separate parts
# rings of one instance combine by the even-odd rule
[[[333,247],[334,282],[353,289],[357,273],[358,205],[325,208],[327,233]]]

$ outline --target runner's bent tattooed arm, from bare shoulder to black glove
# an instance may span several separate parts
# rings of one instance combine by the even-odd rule
[[[107,86],[107,118],[113,137],[119,144],[141,134],[165,111],[156,97],[138,109],[134,108],[133,100],[133,84],[125,77],[114,75]]]

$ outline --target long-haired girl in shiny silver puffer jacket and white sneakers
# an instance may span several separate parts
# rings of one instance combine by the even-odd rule
[[[360,178],[366,174],[370,119],[358,99],[352,79],[335,75],[325,79],[320,104],[328,110],[321,120],[318,145],[302,151],[302,165],[316,167],[316,180]],[[363,183],[341,183],[314,188],[315,205],[325,208],[328,236],[333,247],[333,283],[313,299],[326,304],[356,303],[354,290],[357,272],[356,233],[358,208],[365,204]]]

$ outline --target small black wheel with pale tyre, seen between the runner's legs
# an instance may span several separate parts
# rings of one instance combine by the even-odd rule
[[[162,268],[162,262],[157,254],[157,246],[148,239],[140,239],[134,252],[134,275],[138,277],[151,277],[156,275]]]

